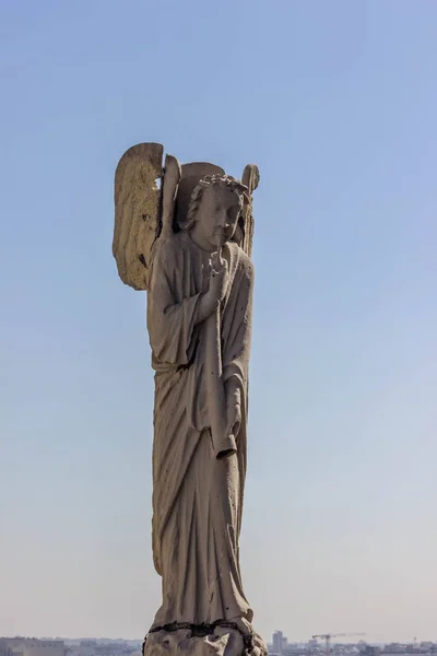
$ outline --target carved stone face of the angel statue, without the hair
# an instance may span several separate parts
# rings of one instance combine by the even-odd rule
[[[216,250],[234,236],[240,210],[238,194],[224,185],[210,185],[203,189],[193,230],[208,248]]]

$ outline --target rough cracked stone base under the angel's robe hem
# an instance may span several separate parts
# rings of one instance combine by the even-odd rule
[[[168,625],[152,630],[143,644],[143,656],[268,656],[257,633],[244,634],[232,622],[222,625]]]

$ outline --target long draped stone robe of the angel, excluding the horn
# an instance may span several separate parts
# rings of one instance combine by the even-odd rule
[[[237,454],[215,457],[206,394],[206,321],[198,321],[211,254],[181,231],[158,243],[147,294],[155,370],[153,557],[163,604],[153,628],[246,620],[252,611],[239,569],[253,268],[234,243],[223,247],[229,285],[220,309],[223,379],[241,395]],[[245,622],[245,623],[246,623]]]

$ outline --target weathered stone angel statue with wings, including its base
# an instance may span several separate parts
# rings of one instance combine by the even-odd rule
[[[241,180],[142,143],[115,179],[113,251],[147,292],[155,371],[153,558],[163,601],[146,655],[267,654],[244,593],[255,165]],[[193,644],[196,643],[196,648]],[[193,651],[194,649],[194,651]]]

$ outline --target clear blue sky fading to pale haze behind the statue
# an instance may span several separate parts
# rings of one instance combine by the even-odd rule
[[[265,637],[437,639],[437,3],[0,4],[0,634],[141,637],[145,298],[118,159],[258,163],[241,555]]]

